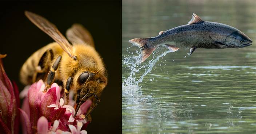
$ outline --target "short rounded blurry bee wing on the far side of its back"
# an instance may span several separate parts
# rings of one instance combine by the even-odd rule
[[[81,24],[73,24],[66,32],[66,36],[72,44],[86,44],[94,47],[91,33]]]

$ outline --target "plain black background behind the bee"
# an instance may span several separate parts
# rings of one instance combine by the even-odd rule
[[[65,35],[73,23],[91,32],[96,50],[108,70],[108,85],[92,113],[88,133],[121,133],[121,1],[1,1],[0,53],[5,71],[17,82],[19,71],[33,52],[53,39],[32,24],[24,11],[41,15]]]

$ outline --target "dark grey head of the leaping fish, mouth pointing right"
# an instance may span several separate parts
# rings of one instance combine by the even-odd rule
[[[231,33],[225,39],[228,48],[243,48],[252,45],[252,40],[240,31]]]

